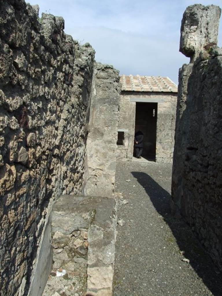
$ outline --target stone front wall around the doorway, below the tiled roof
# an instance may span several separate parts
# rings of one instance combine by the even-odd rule
[[[134,101],[134,102],[133,102]],[[118,130],[124,130],[123,145],[118,145],[117,159],[132,160],[135,134],[136,102],[157,103],[156,161],[172,162],[176,121],[176,93],[140,93],[122,91]]]

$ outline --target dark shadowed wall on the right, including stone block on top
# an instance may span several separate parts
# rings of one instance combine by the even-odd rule
[[[220,12],[219,7],[194,5],[182,21],[181,51],[192,63],[179,72],[172,208],[186,218],[222,270],[222,49],[215,45],[217,36],[208,44],[204,33],[218,31]],[[197,35],[184,34],[184,24],[192,24],[194,16]]]

